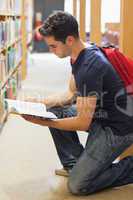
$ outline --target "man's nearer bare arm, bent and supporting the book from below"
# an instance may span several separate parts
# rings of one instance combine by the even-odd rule
[[[77,116],[55,119],[55,120],[45,120],[36,117],[31,117],[27,115],[22,115],[22,117],[32,123],[40,124],[42,126],[48,126],[52,128],[57,128],[61,130],[68,131],[86,131],[89,129],[90,124],[93,119],[93,115],[96,108],[97,97],[77,97]]]

